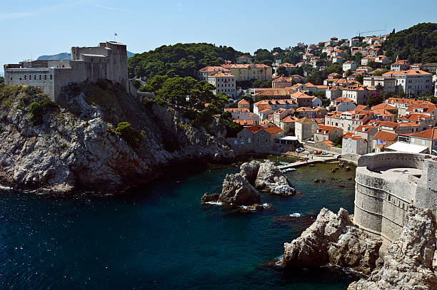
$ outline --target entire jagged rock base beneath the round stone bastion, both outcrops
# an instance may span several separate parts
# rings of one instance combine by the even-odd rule
[[[284,244],[283,264],[331,263],[369,274],[348,290],[437,289],[436,233],[435,215],[429,209],[410,207],[401,235],[380,253],[381,241],[353,225],[345,209],[338,214],[321,209],[300,237]]]

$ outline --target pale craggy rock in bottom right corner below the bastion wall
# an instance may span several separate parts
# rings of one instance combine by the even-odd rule
[[[348,290],[437,289],[436,217],[429,209],[412,207],[401,235],[383,258],[383,266]]]

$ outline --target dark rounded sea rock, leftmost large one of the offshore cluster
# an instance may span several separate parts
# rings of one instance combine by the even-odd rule
[[[219,200],[225,204],[252,205],[259,203],[261,197],[246,178],[236,173],[226,175]]]

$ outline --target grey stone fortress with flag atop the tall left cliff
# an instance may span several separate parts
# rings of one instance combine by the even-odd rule
[[[64,86],[107,79],[130,90],[126,45],[116,41],[71,48],[71,61],[22,61],[4,65],[6,85],[37,86],[56,101]]]

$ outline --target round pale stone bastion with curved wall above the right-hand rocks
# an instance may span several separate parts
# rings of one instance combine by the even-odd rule
[[[410,205],[437,212],[436,177],[437,161],[431,155],[383,152],[361,156],[353,221],[383,242],[393,242],[403,229]]]

